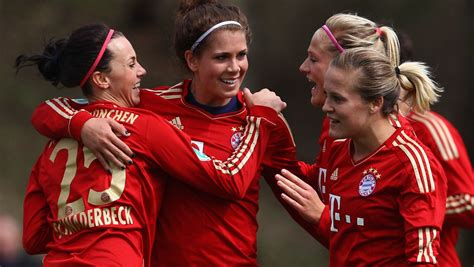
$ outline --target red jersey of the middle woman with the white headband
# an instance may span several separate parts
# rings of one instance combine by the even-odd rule
[[[212,115],[186,102],[190,81],[173,87],[142,90],[140,107],[164,116],[187,133],[194,148],[217,159],[226,159],[243,142],[247,109]],[[238,100],[242,106],[242,94]],[[60,116],[58,105],[69,110]],[[69,99],[49,100],[35,110],[32,122],[46,136],[80,137],[87,112]],[[45,121],[44,118],[53,118]],[[281,168],[298,173],[295,145],[282,117],[276,122],[262,160],[267,181],[275,188],[274,173]],[[174,179],[168,181],[158,221],[157,243],[153,259],[158,266],[257,265],[256,233],[258,177],[234,200],[225,200]],[[208,190],[207,190],[208,191]]]

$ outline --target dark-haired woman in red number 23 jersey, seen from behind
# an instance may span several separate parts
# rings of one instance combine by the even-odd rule
[[[163,118],[134,108],[146,71],[122,33],[102,24],[81,27],[50,41],[42,54],[17,58],[18,69],[32,65],[53,85],[80,86],[89,100],[83,112],[59,105],[61,116],[89,112],[123,123],[130,135],[122,140],[135,153],[127,168],[106,171],[80,142],[48,142],[30,176],[23,225],[25,250],[46,253],[45,266],[150,266],[167,178],[222,197],[240,195],[253,181],[278,120],[274,110],[258,105],[277,111],[285,106],[269,91],[247,92],[254,105],[244,141],[224,161],[195,149]]]

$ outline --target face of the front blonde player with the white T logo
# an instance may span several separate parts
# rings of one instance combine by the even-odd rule
[[[370,129],[370,103],[355,89],[360,72],[329,67],[325,76],[323,111],[330,121],[329,135],[335,139],[357,139]]]

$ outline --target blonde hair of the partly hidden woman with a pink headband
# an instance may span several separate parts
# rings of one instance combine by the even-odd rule
[[[326,26],[344,49],[370,47],[386,55],[393,67],[400,64],[400,44],[392,28],[379,27],[375,22],[364,17],[343,13],[327,19]],[[328,36],[323,31],[319,31],[319,35],[327,40],[323,49],[333,55],[338,54]]]

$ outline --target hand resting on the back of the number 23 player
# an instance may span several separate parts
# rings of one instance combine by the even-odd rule
[[[133,163],[131,159],[134,156],[133,151],[118,138],[129,135],[122,124],[110,118],[92,118],[81,130],[84,146],[91,150],[108,171],[110,171],[109,162],[122,169]]]

